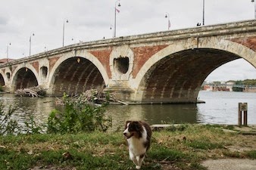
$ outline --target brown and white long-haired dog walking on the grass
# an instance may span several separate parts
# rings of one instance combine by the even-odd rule
[[[127,121],[123,135],[129,148],[130,159],[136,165],[136,169],[142,166],[145,153],[150,147],[151,128],[146,122]]]

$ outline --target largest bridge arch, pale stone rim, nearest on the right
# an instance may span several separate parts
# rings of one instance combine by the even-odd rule
[[[173,43],[142,66],[132,85],[142,103],[195,103],[206,77],[231,60],[244,58],[256,68],[255,52],[229,40],[208,38]],[[183,44],[183,45],[180,45]]]

